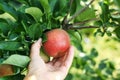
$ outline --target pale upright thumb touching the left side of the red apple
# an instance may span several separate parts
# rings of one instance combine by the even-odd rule
[[[32,45],[30,52],[31,59],[40,58],[39,54],[40,54],[41,45],[42,45],[41,38]]]

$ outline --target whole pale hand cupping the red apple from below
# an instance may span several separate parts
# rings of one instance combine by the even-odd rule
[[[74,56],[74,48],[70,46],[63,57],[45,63],[39,56],[42,46],[41,38],[36,41],[30,52],[31,62],[24,80],[64,80],[68,74]]]

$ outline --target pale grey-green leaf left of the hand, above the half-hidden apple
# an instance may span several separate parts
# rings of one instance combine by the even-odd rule
[[[7,60],[3,61],[2,64],[10,64],[18,67],[25,68],[29,63],[30,58],[28,56],[14,54],[11,55]]]

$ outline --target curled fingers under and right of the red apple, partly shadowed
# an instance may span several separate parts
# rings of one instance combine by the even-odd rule
[[[69,70],[74,57],[74,47],[70,46],[68,52],[62,57],[54,58],[48,64],[51,64],[53,67],[57,67],[60,70],[65,70],[66,72]]]

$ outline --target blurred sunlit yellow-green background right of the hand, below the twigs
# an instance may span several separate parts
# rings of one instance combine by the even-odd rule
[[[80,31],[83,52],[76,56],[66,80],[119,80],[120,42],[115,35],[94,37],[94,29]]]

